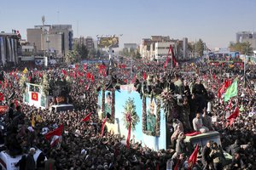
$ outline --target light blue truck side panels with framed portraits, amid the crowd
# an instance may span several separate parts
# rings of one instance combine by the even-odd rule
[[[134,104],[136,112],[132,117],[131,140],[147,145],[153,150],[166,150],[166,116],[161,109],[159,99],[141,98],[140,94],[131,88],[131,85],[122,85],[119,91],[102,90],[98,95],[98,114],[108,117],[106,126],[121,136],[128,135],[129,122],[127,122],[127,107],[129,102]],[[102,95],[103,94],[103,95]],[[131,106],[132,107],[132,106]],[[132,110],[132,111],[133,111]]]

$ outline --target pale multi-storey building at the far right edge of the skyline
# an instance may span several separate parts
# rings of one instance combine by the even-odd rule
[[[256,32],[252,32],[252,31],[236,32],[236,42],[249,42],[253,50],[256,50]]]

